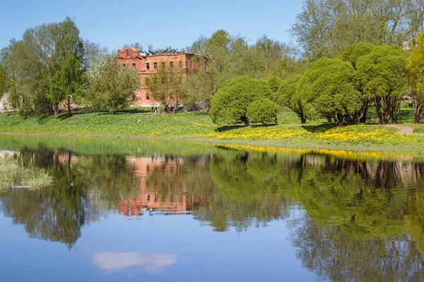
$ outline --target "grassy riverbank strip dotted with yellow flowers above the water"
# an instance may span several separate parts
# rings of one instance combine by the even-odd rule
[[[151,140],[208,142],[296,149],[424,154],[424,136],[399,134],[384,125],[295,124],[281,116],[277,125],[220,126],[206,113],[83,113],[71,117],[38,116],[25,120],[16,113],[0,114],[0,132],[8,134],[143,137]],[[418,125],[419,128],[419,125]]]

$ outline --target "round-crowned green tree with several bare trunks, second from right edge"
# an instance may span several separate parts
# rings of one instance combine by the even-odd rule
[[[406,93],[408,51],[401,47],[375,47],[356,61],[364,94],[375,103],[377,123],[396,123]]]

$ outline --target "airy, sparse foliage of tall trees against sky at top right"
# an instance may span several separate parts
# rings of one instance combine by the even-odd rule
[[[411,47],[422,28],[420,0],[307,0],[291,28],[305,55],[336,58],[358,42]]]

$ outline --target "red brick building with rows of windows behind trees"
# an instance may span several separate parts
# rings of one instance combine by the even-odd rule
[[[128,66],[139,71],[141,82],[140,89],[136,92],[136,106],[153,106],[160,104],[152,99],[146,86],[146,78],[155,73],[160,67],[165,69],[175,69],[181,72],[184,78],[189,71],[199,69],[195,54],[187,54],[181,51],[174,51],[163,54],[146,54],[134,47],[127,46],[117,52],[118,62],[123,66]]]

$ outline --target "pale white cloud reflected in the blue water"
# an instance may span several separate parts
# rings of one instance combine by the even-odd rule
[[[106,271],[119,271],[132,266],[143,266],[147,273],[165,271],[165,267],[177,262],[176,255],[160,252],[95,252],[93,264]]]

